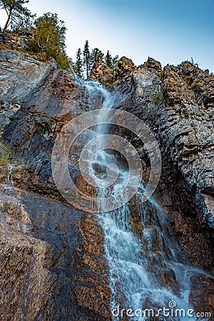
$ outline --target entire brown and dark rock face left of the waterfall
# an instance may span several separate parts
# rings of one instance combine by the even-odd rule
[[[19,51],[1,51],[1,75],[1,115],[10,114],[0,147],[12,164],[1,157],[0,319],[110,320],[101,227],[61,203],[51,175],[58,131],[94,101],[56,63]]]

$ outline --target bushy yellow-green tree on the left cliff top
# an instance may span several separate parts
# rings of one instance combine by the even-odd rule
[[[66,27],[57,14],[48,12],[36,19],[32,31],[34,38],[27,43],[29,51],[37,54],[41,61],[53,57],[61,68],[72,69],[72,61],[66,55]]]

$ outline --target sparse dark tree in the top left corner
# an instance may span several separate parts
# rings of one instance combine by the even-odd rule
[[[36,15],[32,15],[24,4],[28,4],[29,0],[0,0],[0,9],[6,11],[7,20],[3,32],[6,29],[24,29],[29,27],[31,19]]]

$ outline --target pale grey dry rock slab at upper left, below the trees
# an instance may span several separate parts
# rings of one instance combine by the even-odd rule
[[[1,36],[1,34],[0,34]],[[1,40],[1,39],[0,39]],[[0,51],[0,128],[4,130],[26,96],[56,69],[56,62],[42,63],[16,50]]]

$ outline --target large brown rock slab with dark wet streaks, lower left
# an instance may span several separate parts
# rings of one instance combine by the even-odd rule
[[[108,267],[101,245],[91,250],[98,223],[71,205],[0,189],[0,319],[110,320]]]

